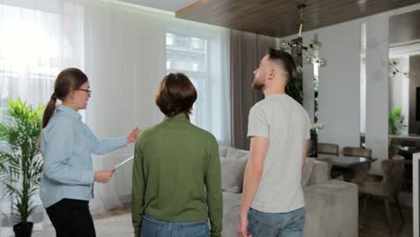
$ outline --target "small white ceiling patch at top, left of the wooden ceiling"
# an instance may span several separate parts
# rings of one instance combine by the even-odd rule
[[[119,0],[130,4],[138,4],[175,13],[178,10],[194,4],[197,0]]]

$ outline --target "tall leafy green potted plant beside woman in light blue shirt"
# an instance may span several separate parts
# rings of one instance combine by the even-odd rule
[[[5,194],[13,197],[16,237],[31,236],[32,232],[28,218],[35,210],[33,196],[39,189],[42,171],[38,145],[42,111],[41,106],[35,108],[20,99],[10,99],[4,109],[4,122],[0,123],[0,142],[9,148],[0,151],[0,179]]]

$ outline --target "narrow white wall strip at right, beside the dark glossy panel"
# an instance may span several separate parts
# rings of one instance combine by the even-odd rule
[[[366,147],[375,158],[388,159],[389,16],[366,19]],[[381,173],[381,162],[372,163]]]

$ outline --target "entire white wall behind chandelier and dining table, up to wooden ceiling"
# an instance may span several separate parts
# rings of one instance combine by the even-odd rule
[[[328,66],[319,70],[319,142],[359,145],[360,140],[360,27],[366,22],[366,146],[375,158],[388,158],[388,52],[389,17],[420,9],[420,4],[399,8],[351,22],[302,33],[305,44],[318,34],[322,48],[319,57]],[[303,27],[304,30],[304,27]],[[297,31],[297,29],[296,29]],[[285,39],[293,39],[289,36]],[[303,106],[313,115],[311,67],[303,68]],[[381,172],[381,161],[372,171]]]

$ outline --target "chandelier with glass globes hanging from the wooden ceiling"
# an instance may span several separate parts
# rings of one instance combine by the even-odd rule
[[[280,48],[283,50],[297,50],[300,52],[300,57],[310,65],[318,65],[319,67],[327,66],[327,60],[317,56],[318,50],[322,48],[322,43],[318,41],[315,36],[314,40],[311,40],[308,46],[302,44],[302,28],[303,28],[303,9],[306,4],[298,4],[297,8],[301,12],[301,24],[299,26],[298,38],[294,40],[281,40]],[[293,50],[294,49],[294,50]],[[302,53],[301,53],[302,52]],[[298,71],[302,71],[302,66],[298,66]]]

